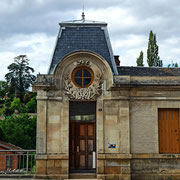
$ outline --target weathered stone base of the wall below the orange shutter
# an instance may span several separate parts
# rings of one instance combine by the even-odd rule
[[[179,155],[138,154],[131,160],[132,180],[180,179]]]

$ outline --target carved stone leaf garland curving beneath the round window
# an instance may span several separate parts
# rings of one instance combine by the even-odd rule
[[[69,99],[95,100],[102,93],[102,76],[98,74],[91,86],[87,88],[75,87],[71,81],[70,74],[64,77],[65,91]]]

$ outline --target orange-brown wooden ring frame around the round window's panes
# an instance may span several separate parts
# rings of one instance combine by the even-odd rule
[[[80,69],[85,69],[85,70],[88,71],[88,72],[90,73],[90,75],[91,75],[91,81],[90,81],[90,83],[87,84],[87,85],[85,85],[85,86],[80,86],[80,85],[77,84],[77,83],[75,82],[75,80],[74,80],[74,79],[75,79],[75,74],[76,74],[76,72],[79,71]],[[83,78],[84,78],[84,76],[81,77],[81,79],[83,79]],[[79,66],[79,67],[76,67],[76,68],[72,71],[71,79],[72,79],[72,82],[73,82],[73,84],[74,84],[75,86],[77,86],[77,87],[79,87],[79,88],[87,88],[87,87],[89,87],[89,86],[93,83],[93,81],[94,81],[94,73],[93,73],[93,71],[92,71],[89,67]]]

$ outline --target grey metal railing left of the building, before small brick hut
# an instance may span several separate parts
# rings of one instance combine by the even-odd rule
[[[34,174],[36,150],[0,150],[0,174]]]

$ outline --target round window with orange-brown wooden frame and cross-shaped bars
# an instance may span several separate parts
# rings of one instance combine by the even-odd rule
[[[75,68],[72,72],[73,83],[81,88],[90,86],[93,82],[94,74],[93,71],[87,67]]]

